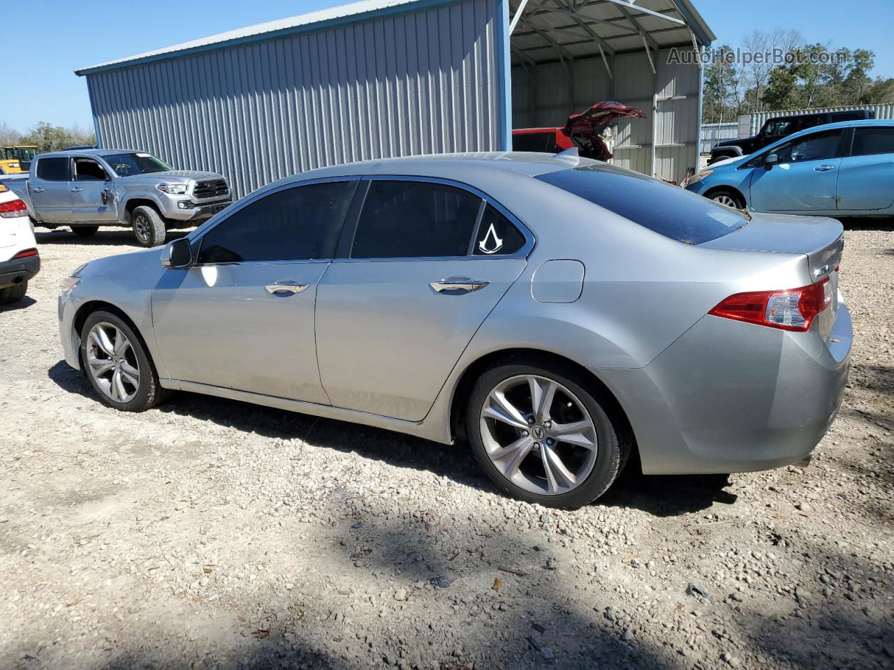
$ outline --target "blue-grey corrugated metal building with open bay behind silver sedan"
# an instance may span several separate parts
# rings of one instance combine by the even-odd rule
[[[512,128],[603,99],[648,117],[619,123],[616,163],[680,180],[712,40],[689,0],[364,0],[76,73],[100,147],[221,172],[238,196],[333,163],[506,150]]]

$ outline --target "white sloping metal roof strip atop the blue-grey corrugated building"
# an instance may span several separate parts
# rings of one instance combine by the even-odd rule
[[[194,53],[196,51],[207,51],[209,49],[221,48],[232,43],[242,43],[250,41],[258,41],[260,39],[270,39],[281,33],[298,32],[302,29],[319,29],[322,25],[330,25],[340,21],[353,21],[355,17],[368,13],[388,13],[389,11],[402,11],[412,9],[411,7],[403,7],[406,4],[419,4],[422,6],[443,4],[448,0],[360,0],[356,3],[340,4],[337,7],[300,14],[299,16],[291,16],[286,19],[278,19],[276,21],[266,21],[266,23],[256,23],[252,26],[239,28],[235,30],[227,30],[226,32],[217,33],[207,38],[193,39],[190,42],[174,46],[165,46],[163,49],[148,51],[145,54],[137,54],[127,58],[119,58],[114,61],[106,61],[97,65],[75,70],[74,73],[82,76],[95,71],[114,70],[122,67],[130,67],[141,62],[155,61],[162,58],[173,58],[181,54]]]

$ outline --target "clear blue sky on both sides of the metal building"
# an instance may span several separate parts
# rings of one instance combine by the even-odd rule
[[[343,0],[189,0],[181,3],[82,0],[4,2],[4,80],[0,122],[26,130],[37,121],[93,124],[87,85],[78,67],[213,35],[252,23],[343,4]],[[891,0],[694,0],[717,34],[737,45],[753,29],[797,29],[811,42],[866,47],[873,74],[894,77]],[[8,29],[13,27],[13,30]]]

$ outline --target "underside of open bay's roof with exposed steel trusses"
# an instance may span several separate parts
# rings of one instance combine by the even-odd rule
[[[690,0],[510,0],[510,14],[518,64],[707,46],[716,39]]]

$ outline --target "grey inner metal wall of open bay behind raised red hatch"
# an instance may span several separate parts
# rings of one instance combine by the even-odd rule
[[[697,168],[701,71],[696,65],[668,63],[669,53],[653,53],[657,74],[645,51],[617,54],[609,59],[614,79],[598,56],[574,61],[570,79],[561,63],[514,67],[513,127],[562,126],[569,113],[599,100],[634,105],[647,118],[618,121],[614,163],[653,174],[654,137],[654,174],[679,182],[688,168]]]

